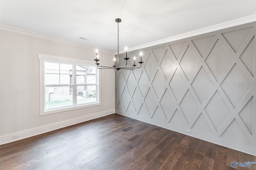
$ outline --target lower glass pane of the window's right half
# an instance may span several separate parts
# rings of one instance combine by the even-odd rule
[[[77,104],[96,102],[96,86],[77,86]]]

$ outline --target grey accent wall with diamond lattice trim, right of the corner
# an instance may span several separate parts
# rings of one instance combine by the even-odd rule
[[[256,155],[255,26],[128,52],[144,63],[116,71],[116,113]]]

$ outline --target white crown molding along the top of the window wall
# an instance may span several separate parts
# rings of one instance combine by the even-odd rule
[[[1,18],[0,18],[0,22],[1,22]],[[68,40],[65,40],[65,39],[60,39],[60,38],[57,38],[57,37],[52,37],[50,35],[44,35],[44,34],[41,34],[41,33],[36,33],[36,32],[33,32],[33,31],[28,31],[26,29],[20,29],[20,28],[16,28],[16,27],[11,27],[11,26],[8,26],[8,25],[1,24],[0,25],[0,29],[4,30],[4,31],[10,31],[10,32],[14,32],[14,33],[23,34],[23,35],[28,35],[28,36],[31,36],[31,37],[36,37],[36,38],[46,39],[46,40],[50,40],[50,41],[55,41],[55,42],[58,42],[58,43],[64,43],[64,44],[67,44],[67,45],[74,45],[76,47],[82,47],[82,48],[85,48],[85,49],[90,49],[90,50],[95,50],[96,49],[96,47],[92,47],[92,46],[89,46],[89,45],[75,43],[73,41],[68,41]],[[108,50],[105,50],[105,49],[98,49],[98,50],[100,50],[101,52],[104,52],[104,53],[108,53],[108,54],[114,55],[114,51],[108,51]]]

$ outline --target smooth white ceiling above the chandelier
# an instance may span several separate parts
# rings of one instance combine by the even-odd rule
[[[117,51],[256,15],[256,0],[0,0],[0,24]],[[79,37],[85,38],[80,39]]]

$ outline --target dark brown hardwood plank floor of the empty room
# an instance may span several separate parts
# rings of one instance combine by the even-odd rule
[[[0,145],[0,170],[256,170],[256,157],[113,114]]]

